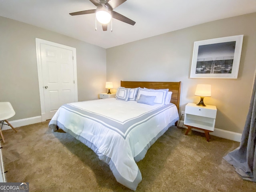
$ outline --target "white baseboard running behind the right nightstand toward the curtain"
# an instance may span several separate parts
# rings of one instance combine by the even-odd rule
[[[178,124],[179,124],[179,121],[178,121]],[[186,126],[184,126],[184,121],[181,120],[180,124],[182,125],[183,128],[187,128]],[[198,131],[198,132],[203,132],[203,131],[197,130],[197,129],[193,129],[193,130]],[[214,132],[211,132],[210,134],[217,136],[217,137],[237,141],[237,142],[240,142],[241,138],[242,138],[241,133],[236,133],[236,132],[227,131],[227,130],[218,129],[218,128],[214,128]]]

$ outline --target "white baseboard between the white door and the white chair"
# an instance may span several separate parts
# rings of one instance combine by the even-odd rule
[[[36,116],[36,117],[18,119],[18,120],[13,120],[13,121],[8,121],[8,122],[14,128],[16,128],[16,127],[26,126],[26,125],[30,125],[30,124],[34,124],[34,123],[40,123],[40,122],[42,122],[42,117],[41,116]],[[3,125],[2,130],[7,130],[7,129],[11,129],[11,127],[8,126],[8,125]]]

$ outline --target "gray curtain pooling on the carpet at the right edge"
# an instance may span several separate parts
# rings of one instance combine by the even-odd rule
[[[256,76],[249,112],[246,117],[240,146],[223,158],[236,168],[244,180],[256,182]]]

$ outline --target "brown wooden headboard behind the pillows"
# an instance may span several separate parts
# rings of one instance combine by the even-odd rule
[[[148,88],[148,89],[169,89],[172,92],[171,103],[179,110],[181,82],[146,82],[146,81],[121,81],[121,87],[125,88]]]

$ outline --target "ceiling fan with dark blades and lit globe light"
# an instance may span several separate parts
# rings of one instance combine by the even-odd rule
[[[126,2],[126,0],[90,0],[97,8],[92,10],[78,11],[70,15],[84,15],[96,13],[96,19],[102,24],[103,31],[108,30],[108,23],[112,18],[134,25],[135,22],[126,16],[115,12],[113,9]]]

